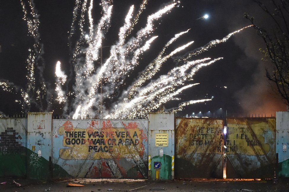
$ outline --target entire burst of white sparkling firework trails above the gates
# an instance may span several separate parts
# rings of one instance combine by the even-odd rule
[[[73,50],[71,63],[75,75],[73,86],[69,89],[68,75],[61,70],[61,63],[57,62],[55,67],[55,93],[51,88],[46,87],[43,79],[43,71],[37,70],[41,84],[35,83],[35,68],[41,68],[44,64],[40,59],[42,44],[39,42],[38,15],[32,0],[28,3],[20,1],[23,6],[23,19],[27,21],[29,35],[35,43],[29,49],[27,59],[28,85],[27,88],[18,88],[7,80],[0,80],[4,91],[20,92],[23,99],[23,109],[29,110],[32,104],[44,110],[44,101],[48,108],[55,102],[62,105],[63,113],[73,118],[86,118],[98,116],[99,118],[137,118],[147,117],[149,112],[158,109],[168,101],[178,101],[177,106],[170,111],[180,111],[185,106],[209,101],[211,99],[196,99],[180,102],[182,91],[192,88],[199,83],[192,83],[193,76],[202,67],[213,64],[222,59],[203,58],[193,60],[196,55],[208,51],[208,49],[219,43],[227,41],[231,36],[248,28],[249,26],[228,34],[221,40],[213,40],[207,45],[187,52],[177,57],[181,51],[188,49],[194,41],[175,48],[170,53],[167,49],[179,37],[189,32],[189,29],[176,33],[160,50],[160,53],[152,62],[147,64],[144,71],[133,82],[126,81],[130,74],[136,74],[135,68],[140,64],[142,54],[150,49],[158,36],[152,36],[155,30],[155,23],[172,9],[179,5],[179,1],[171,1],[164,5],[157,12],[147,17],[146,25],[140,28],[135,34],[134,27],[142,15],[148,0],[143,0],[138,11],[135,13],[134,5],[129,7],[126,17],[123,19],[123,26],[119,29],[116,43],[110,47],[110,54],[102,59],[102,48],[105,35],[110,27],[113,5],[112,1],[102,0],[100,4],[93,0],[76,0],[73,10],[73,19],[69,34],[70,49]],[[27,10],[27,5],[29,10]],[[102,16],[98,22],[94,21],[92,11],[95,6],[102,7]],[[85,26],[88,25],[88,26]],[[78,31],[79,33],[76,33]],[[76,37],[79,34],[79,37]],[[77,38],[75,43],[72,39]],[[176,57],[177,67],[168,70],[166,74],[156,76],[163,64],[168,59]],[[73,90],[73,91],[71,91]],[[109,101],[109,105],[107,102]],[[114,106],[114,107],[112,107]]]

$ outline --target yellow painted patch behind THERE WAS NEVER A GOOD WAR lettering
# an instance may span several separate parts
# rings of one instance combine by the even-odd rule
[[[113,128],[107,125],[99,131],[98,125],[87,128],[74,128],[66,121],[57,131],[57,137],[63,136],[64,149],[59,150],[61,159],[137,159],[143,156],[143,140],[147,138],[136,126]]]

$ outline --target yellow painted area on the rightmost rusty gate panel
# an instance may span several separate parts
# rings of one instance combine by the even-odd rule
[[[274,118],[228,119],[227,124],[227,154],[266,155],[275,146],[268,140],[275,135]]]

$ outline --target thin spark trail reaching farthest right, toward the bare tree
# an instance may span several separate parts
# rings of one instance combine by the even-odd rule
[[[203,53],[204,51],[208,51],[208,49],[211,49],[215,46],[217,46],[217,44],[220,44],[220,43],[224,43],[226,42],[231,36],[235,35],[236,33],[239,33],[240,31],[246,29],[246,28],[249,28],[249,27],[252,27],[253,25],[248,25],[246,27],[243,27],[242,29],[239,29],[239,30],[236,30],[232,33],[229,33],[227,36],[225,36],[224,38],[222,38],[221,40],[219,39],[216,39],[216,40],[213,40],[213,41],[210,41],[210,43],[206,44],[205,46],[203,47],[200,47],[200,48],[197,48],[195,49],[194,51],[190,52],[187,56],[183,56],[182,58],[179,58],[178,61],[181,62],[181,61],[188,61],[188,59],[191,59],[193,56],[196,56],[198,54],[201,54]]]

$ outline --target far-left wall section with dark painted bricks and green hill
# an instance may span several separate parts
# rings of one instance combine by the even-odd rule
[[[27,118],[0,119],[0,177],[27,175]]]

